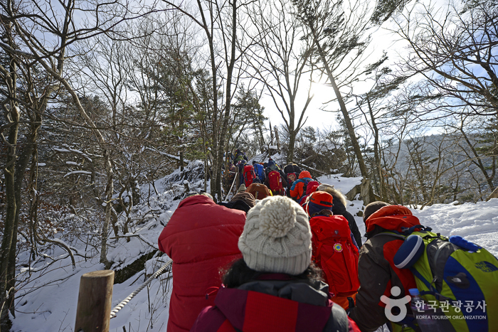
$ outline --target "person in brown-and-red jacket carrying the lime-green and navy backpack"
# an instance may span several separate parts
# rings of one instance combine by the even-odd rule
[[[400,232],[401,227],[413,227],[420,225],[420,222],[408,208],[384,202],[366,205],[363,218],[367,240],[360,251],[360,288],[356,294],[356,306],[349,312],[349,317],[356,321],[361,331],[366,332],[376,331],[379,326],[390,323],[385,314],[386,304],[381,301],[382,295],[398,299],[409,295],[408,289],[417,288],[410,270],[398,269],[393,263],[393,257],[403,240],[386,235],[386,231]],[[391,294],[393,287],[399,288],[396,293],[401,290],[398,296]],[[409,304],[406,306],[410,313]],[[402,331],[403,321],[392,324],[393,331]]]

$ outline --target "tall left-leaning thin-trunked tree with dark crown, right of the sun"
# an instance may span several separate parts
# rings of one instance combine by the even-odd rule
[[[314,45],[314,65],[324,73],[334,90],[361,176],[367,179],[369,172],[341,88],[347,87],[361,73],[358,65],[364,60],[370,39],[366,33],[370,23],[368,4],[362,1],[344,4],[340,0],[293,1],[293,4],[295,15],[307,28],[306,38]]]

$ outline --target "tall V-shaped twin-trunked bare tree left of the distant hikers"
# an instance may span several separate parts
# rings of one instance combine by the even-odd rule
[[[203,31],[209,48],[207,63],[211,72],[211,102],[213,103],[210,107],[212,109],[210,132],[213,146],[211,149],[213,154],[211,191],[215,197],[221,199],[221,169],[231,117],[231,100],[236,92],[238,77],[240,77],[236,73],[236,70],[240,71],[240,68],[235,65],[239,63],[241,54],[248,47],[244,45],[244,29],[240,28],[243,21],[238,16],[240,6],[245,6],[245,4],[240,4],[238,1],[227,3],[198,0],[195,5],[188,8],[172,1],[162,1],[195,22]]]

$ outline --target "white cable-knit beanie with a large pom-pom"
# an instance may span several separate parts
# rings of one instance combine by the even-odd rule
[[[238,249],[251,269],[297,275],[311,263],[311,238],[301,206],[285,196],[270,196],[249,210]]]

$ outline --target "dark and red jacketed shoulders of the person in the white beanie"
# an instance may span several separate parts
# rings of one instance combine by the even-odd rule
[[[191,331],[359,332],[344,309],[328,299],[323,282],[257,280],[220,289],[214,303],[203,309]]]

